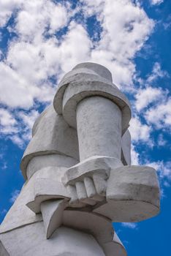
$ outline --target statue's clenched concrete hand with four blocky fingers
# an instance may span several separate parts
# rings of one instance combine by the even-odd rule
[[[105,200],[110,170],[122,165],[121,160],[114,157],[94,156],[69,167],[62,182],[69,189],[70,203],[94,206],[98,201]]]

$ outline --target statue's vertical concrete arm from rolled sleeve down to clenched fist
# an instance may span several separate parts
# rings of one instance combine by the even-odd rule
[[[104,74],[101,66],[95,72],[91,68],[91,73],[77,69],[77,78],[73,70],[69,72],[58,86],[53,105],[77,130],[80,163],[66,170],[62,179],[73,195],[70,202],[94,205],[105,200],[110,171],[123,165],[121,138],[129,126],[130,108],[111,74]]]

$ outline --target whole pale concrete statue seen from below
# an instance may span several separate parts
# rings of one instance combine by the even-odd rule
[[[156,171],[131,165],[129,100],[105,67],[78,64],[34,123],[26,179],[0,226],[0,255],[125,256],[112,222],[159,213]]]

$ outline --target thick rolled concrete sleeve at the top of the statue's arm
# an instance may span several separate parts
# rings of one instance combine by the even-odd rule
[[[110,72],[104,70],[106,68],[99,64],[78,64],[61,80],[53,105],[56,112],[62,113],[71,127],[77,127],[76,107],[78,102],[93,95],[110,99],[121,108],[123,134],[128,128],[131,118],[129,100],[112,83]]]

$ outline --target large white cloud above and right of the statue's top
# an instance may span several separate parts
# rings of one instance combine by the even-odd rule
[[[104,64],[113,73],[113,80],[119,86],[130,89],[134,78],[134,58],[142,48],[145,40],[153,30],[153,20],[150,20],[144,10],[132,1],[101,1],[102,34],[97,47],[92,50],[92,60]],[[89,1],[86,1],[88,4]],[[96,10],[98,1],[94,2]],[[91,5],[88,5],[92,8]],[[97,9],[98,10],[98,9]]]

